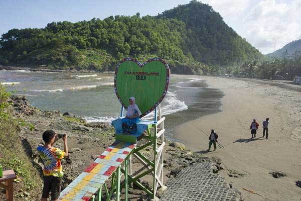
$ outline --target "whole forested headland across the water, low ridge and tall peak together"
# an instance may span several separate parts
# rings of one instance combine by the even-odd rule
[[[0,65],[112,70],[124,57],[161,57],[174,73],[218,71],[262,54],[206,4],[192,1],[156,17],[110,16],[44,29],[12,29],[0,40]]]

